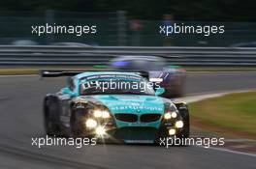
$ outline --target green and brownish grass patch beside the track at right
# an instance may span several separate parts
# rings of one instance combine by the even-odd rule
[[[205,125],[256,135],[256,92],[205,99],[189,108],[192,118]]]

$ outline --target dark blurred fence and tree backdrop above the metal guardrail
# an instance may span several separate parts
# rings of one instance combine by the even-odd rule
[[[224,34],[159,34],[159,25],[224,25]],[[81,42],[90,45],[253,46],[256,42],[253,0],[9,0],[0,2],[0,44]],[[97,36],[31,34],[32,25],[97,25]],[[25,41],[25,42],[24,42]],[[21,42],[21,43],[20,43]]]

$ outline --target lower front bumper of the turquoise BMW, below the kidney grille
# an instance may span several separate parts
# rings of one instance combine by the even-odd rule
[[[98,134],[95,128],[86,129],[86,135],[98,138],[103,142],[114,142],[114,143],[155,143],[158,142],[159,138],[170,137],[178,135],[182,132],[183,128],[177,128],[175,126],[176,121],[174,120],[163,120],[161,119],[158,127],[150,125],[131,125],[126,123],[127,126],[118,127],[116,121],[112,122],[99,122],[99,126],[104,128],[104,134]],[[118,122],[117,122],[118,123]],[[122,122],[123,124],[123,122]],[[169,130],[175,128],[176,134],[170,135]]]

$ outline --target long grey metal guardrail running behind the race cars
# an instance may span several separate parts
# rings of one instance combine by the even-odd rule
[[[120,55],[155,55],[180,66],[256,66],[256,47],[0,45],[0,66],[106,65]],[[139,57],[139,56],[138,56]]]

